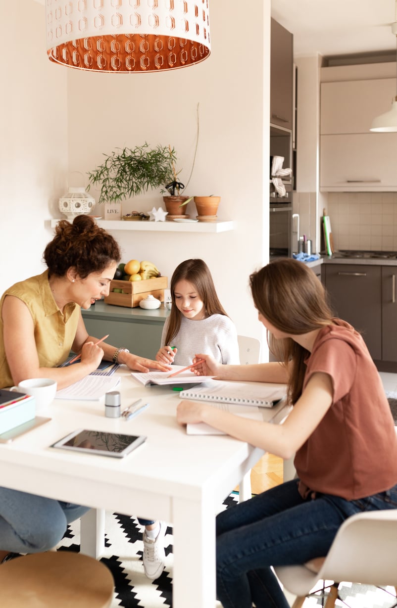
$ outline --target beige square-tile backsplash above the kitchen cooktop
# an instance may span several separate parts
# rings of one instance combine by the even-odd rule
[[[335,249],[397,251],[397,192],[330,192]]]

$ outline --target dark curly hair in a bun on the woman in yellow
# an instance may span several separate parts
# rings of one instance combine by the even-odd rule
[[[89,215],[76,216],[72,224],[61,219],[43,257],[49,277],[63,277],[69,268],[75,268],[81,278],[102,272],[121,258],[117,242]]]

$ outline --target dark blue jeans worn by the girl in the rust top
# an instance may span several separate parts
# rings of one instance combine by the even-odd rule
[[[297,480],[282,483],[216,517],[218,599],[224,608],[289,608],[271,566],[328,553],[343,521],[397,508],[397,485],[361,500],[317,494],[303,500]]]

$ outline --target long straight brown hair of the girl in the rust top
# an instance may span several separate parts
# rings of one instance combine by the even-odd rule
[[[278,258],[250,275],[252,297],[258,311],[275,328],[294,336],[330,325],[333,313],[325,289],[311,269],[291,258]],[[306,348],[291,338],[275,340],[268,336],[269,347],[291,368],[288,393],[292,403],[302,394]]]

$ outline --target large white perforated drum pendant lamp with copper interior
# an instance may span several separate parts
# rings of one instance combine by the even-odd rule
[[[95,72],[161,72],[211,52],[209,0],[46,0],[47,55]]]

